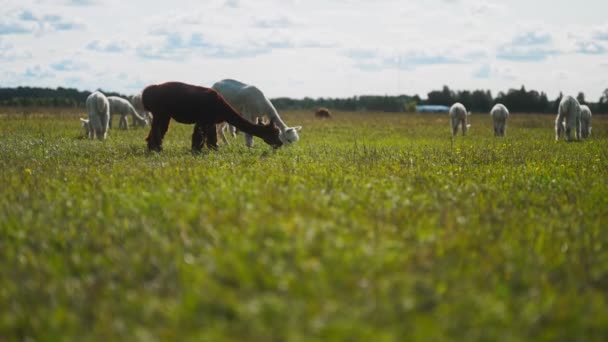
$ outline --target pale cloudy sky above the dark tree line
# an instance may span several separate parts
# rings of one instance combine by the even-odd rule
[[[268,97],[608,88],[606,0],[0,0],[0,87]]]

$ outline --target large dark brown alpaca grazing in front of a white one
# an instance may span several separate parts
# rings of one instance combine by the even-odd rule
[[[268,145],[277,148],[279,129],[271,121],[268,125],[257,125],[243,118],[214,89],[180,82],[150,85],[142,93],[144,109],[152,113],[152,128],[146,140],[150,151],[161,151],[163,137],[169,129],[169,121],[194,124],[192,150],[200,151],[206,143],[217,149],[215,125],[228,122],[240,131],[260,137]]]

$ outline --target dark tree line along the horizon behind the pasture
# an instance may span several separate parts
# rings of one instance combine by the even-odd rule
[[[106,95],[126,97],[119,93],[105,92]],[[37,88],[16,87],[0,88],[0,106],[10,107],[84,107],[90,91],[80,91],[73,88]],[[460,90],[455,91],[448,86],[441,90],[427,93],[427,98],[418,95],[374,96],[363,95],[349,98],[309,98],[293,99],[287,97],[272,99],[279,110],[305,109],[314,110],[327,107],[343,111],[380,111],[380,112],[413,112],[417,105],[450,106],[461,102],[472,112],[489,112],[496,103],[502,103],[511,112],[517,113],[556,113],[562,99],[560,94],[555,99],[549,99],[544,92],[520,89],[509,89],[499,92],[496,97],[489,90]],[[587,101],[585,94],[580,92],[577,99],[587,104],[593,113],[608,113],[608,88],[604,90],[597,102]]]

